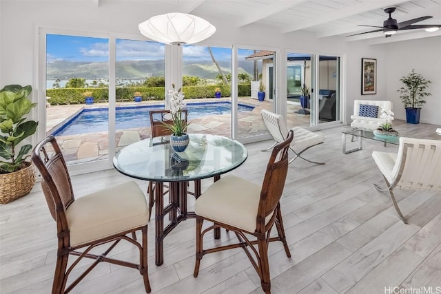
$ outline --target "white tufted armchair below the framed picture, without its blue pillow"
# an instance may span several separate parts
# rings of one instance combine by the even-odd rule
[[[378,116],[376,118],[370,118],[359,115],[360,105],[376,105],[378,106]],[[351,115],[352,123],[351,127],[355,129],[377,129],[382,123],[386,123],[386,118],[380,118],[381,108],[384,110],[392,110],[391,101],[374,101],[374,100],[355,100],[353,101],[353,115]],[[393,119],[393,118],[392,118]]]

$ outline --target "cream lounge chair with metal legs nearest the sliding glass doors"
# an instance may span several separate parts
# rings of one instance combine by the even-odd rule
[[[263,109],[260,114],[262,115],[263,123],[265,123],[265,127],[267,127],[269,134],[276,141],[276,143],[274,143],[272,146],[268,147],[265,150],[262,150],[267,151],[274,147],[274,145],[278,143],[280,144],[285,140],[288,134],[288,128],[285,122],[285,118],[283,118],[282,115],[275,114],[274,112],[269,112],[266,109]],[[300,156],[300,154],[313,146],[323,143],[325,141],[325,138],[318,134],[314,134],[313,132],[308,131],[303,127],[293,127],[292,131],[294,132],[294,140],[292,140],[289,149],[291,149],[291,151],[293,151],[296,155],[289,161],[289,163],[293,162],[296,158],[302,158],[303,160],[311,163],[324,165],[324,162],[311,161]]]

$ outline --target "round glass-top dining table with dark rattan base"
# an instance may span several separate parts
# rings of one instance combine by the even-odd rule
[[[236,169],[245,162],[247,148],[240,142],[224,136],[189,134],[190,142],[183,152],[175,152],[167,137],[141,140],[123,147],[114,156],[113,165],[121,174],[154,182],[155,197],[155,264],[163,264],[163,240],[180,222],[195,218],[187,211],[187,183],[195,182],[194,196],[201,195],[204,178]],[[169,183],[169,203],[164,206],[164,182]],[[152,191],[150,191],[152,193]],[[164,227],[164,217],[170,223]],[[215,231],[220,238],[220,231]]]

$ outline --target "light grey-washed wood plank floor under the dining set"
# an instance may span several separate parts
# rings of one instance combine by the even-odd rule
[[[407,125],[399,120],[394,125],[404,136],[441,139],[435,135],[439,125]],[[384,287],[423,286],[435,291],[441,286],[441,194],[396,191],[409,219],[409,224],[403,224],[387,193],[372,186],[384,182],[371,152],[393,152],[397,147],[364,140],[362,151],[343,155],[343,129],[349,127],[319,131],[325,143],[305,153],[326,165],[298,159],[289,166],[281,202],[292,257],[286,257],[281,244],[271,243],[272,293],[391,293]],[[269,158],[269,152],[260,149],[270,144],[247,145],[249,158],[232,173],[260,183]],[[72,177],[76,197],[125,180],[114,170]],[[203,189],[210,183],[204,180]],[[147,187],[146,182],[139,181],[139,185]],[[190,200],[190,210],[193,203]],[[55,223],[38,183],[28,196],[0,205],[0,213],[0,293],[50,293],[57,241]],[[172,231],[165,238],[165,262],[155,266],[154,222],[150,222],[152,293],[263,293],[258,275],[239,249],[205,255],[195,279],[194,230],[194,220],[186,220]],[[223,231],[216,242],[230,238],[234,234]],[[211,236],[205,239],[207,245],[214,242]],[[126,244],[119,244],[114,254],[136,259],[136,250]],[[75,275],[78,271],[72,272]],[[136,270],[99,264],[72,292],[144,290]]]

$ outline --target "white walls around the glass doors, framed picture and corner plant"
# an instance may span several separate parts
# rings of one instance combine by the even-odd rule
[[[99,3],[99,6],[96,5]],[[170,11],[173,7],[170,7]],[[32,85],[34,88],[34,101],[37,101],[37,77],[34,65],[36,64],[36,39],[37,28],[58,28],[68,30],[85,30],[88,32],[101,32],[112,34],[116,37],[139,36],[145,39],[138,30],[138,24],[163,10],[149,5],[149,1],[0,1],[0,87],[19,83]],[[20,17],[17,17],[20,15]],[[422,69],[422,74],[427,78],[436,80],[436,70],[440,69],[440,57],[435,54],[435,46],[440,48],[440,38],[430,41],[408,41],[391,45],[366,45],[364,41],[345,42],[343,38],[317,39],[314,34],[297,32],[280,34],[277,28],[261,25],[247,25],[237,29],[232,27],[232,21],[221,19],[216,14],[200,15],[216,26],[216,33],[200,45],[244,45],[242,48],[257,46],[259,49],[271,48],[283,53],[308,52],[311,54],[343,56],[343,85],[342,101],[345,102],[343,118],[350,122],[349,116],[353,112],[353,100],[369,98],[372,100],[391,99],[396,95],[392,90],[398,89],[393,85],[400,76],[415,67]],[[407,45],[409,44],[409,46]],[[264,48],[265,47],[265,48]],[[409,47],[409,49],[408,49]],[[431,53],[426,54],[426,50]],[[418,58],[415,57],[418,52]],[[403,56],[403,57],[401,57]],[[361,58],[377,59],[378,78],[377,94],[361,95]],[[434,59],[438,58],[435,67]],[[409,61],[412,66],[402,67]],[[409,64],[409,65],[410,65]],[[433,67],[432,67],[433,66]],[[436,68],[436,70],[435,70]],[[420,70],[421,71],[421,70]],[[398,78],[397,78],[398,76]],[[431,87],[433,97],[424,107],[422,121],[440,124],[436,96],[440,96],[440,86],[433,83]],[[438,85],[438,86],[436,86]],[[435,87],[438,94],[435,92]],[[282,91],[283,92],[283,91]],[[399,103],[394,103],[397,105]],[[438,105],[438,108],[435,107]],[[394,108],[394,110],[396,107]],[[438,110],[438,112],[437,112]],[[438,113],[438,115],[437,115]],[[400,117],[402,113],[397,111]]]

